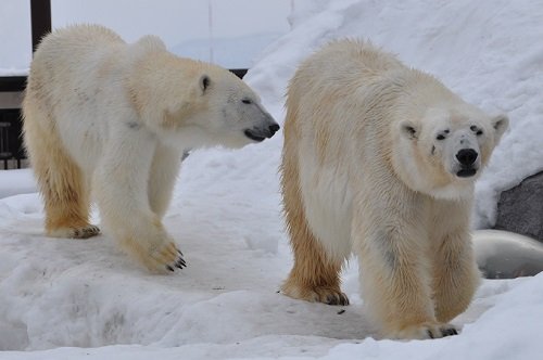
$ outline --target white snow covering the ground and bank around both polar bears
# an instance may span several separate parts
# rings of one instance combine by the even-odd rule
[[[245,78],[277,120],[302,59],[330,39],[365,37],[466,100],[509,115],[510,130],[477,187],[477,228],[492,223],[502,190],[543,169],[538,0],[319,0],[296,8],[290,21],[292,30],[257,56]],[[278,133],[239,151],[195,151],[185,160],[165,226],[189,267],[167,277],[147,273],[106,235],[45,237],[29,171],[0,172],[0,358],[541,357],[543,273],[484,280],[453,321],[460,334],[433,340],[377,336],[354,260],[343,274],[349,307],[278,294],[292,262],[280,214],[281,144]],[[99,221],[97,211],[93,218]]]

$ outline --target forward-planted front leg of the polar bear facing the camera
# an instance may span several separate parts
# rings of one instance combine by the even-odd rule
[[[417,215],[397,209],[374,217],[366,208],[353,219],[353,240],[361,269],[362,293],[370,316],[392,338],[434,338],[455,335],[451,324],[437,321],[427,259],[427,235]],[[403,217],[403,218],[402,218]],[[377,220],[379,219],[379,220]],[[389,220],[390,219],[390,220]],[[420,219],[420,218],[419,218]]]

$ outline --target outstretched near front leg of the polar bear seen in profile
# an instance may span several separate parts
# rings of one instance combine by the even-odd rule
[[[112,134],[96,170],[102,221],[121,247],[149,270],[182,268],[181,252],[149,204],[148,182],[156,139],[142,128],[128,131]]]

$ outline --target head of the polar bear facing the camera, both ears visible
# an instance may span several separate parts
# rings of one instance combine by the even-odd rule
[[[395,169],[407,187],[433,197],[459,198],[471,196],[508,118],[463,103],[429,107],[399,127]]]

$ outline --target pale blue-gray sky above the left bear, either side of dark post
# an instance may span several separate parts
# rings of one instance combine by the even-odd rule
[[[111,27],[129,42],[142,35],[154,34],[173,48],[210,37],[222,39],[287,33],[287,17],[295,1],[51,0],[51,13],[53,28],[98,23]],[[27,67],[30,41],[29,1],[1,0],[0,68]]]

